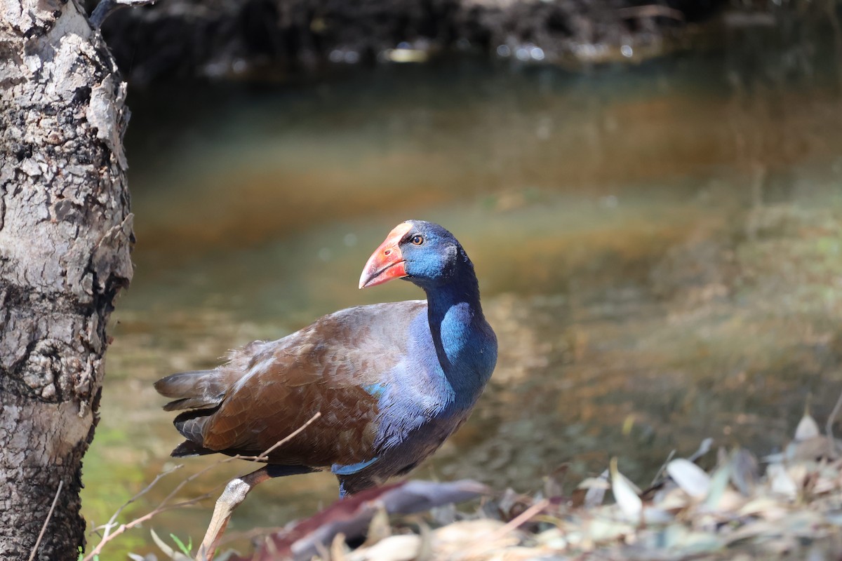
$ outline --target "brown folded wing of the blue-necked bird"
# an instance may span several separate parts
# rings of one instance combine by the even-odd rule
[[[203,423],[202,446],[263,453],[320,412],[317,421],[271,453],[269,462],[327,467],[372,458],[376,389],[388,383],[393,368],[411,360],[408,326],[425,310],[423,301],[361,306],[327,315],[280,341],[235,352],[221,368],[233,383]]]

